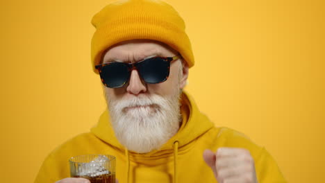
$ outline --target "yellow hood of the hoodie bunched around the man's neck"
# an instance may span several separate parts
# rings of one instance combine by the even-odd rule
[[[208,120],[206,115],[199,112],[194,99],[185,91],[183,91],[181,94],[181,115],[183,121],[181,123],[181,127],[178,129],[178,132],[174,135],[174,137],[169,139],[158,150],[152,150],[149,153],[144,153],[141,155],[162,155],[164,153],[172,152],[174,142],[178,141],[178,148],[182,148],[214,126],[214,124]],[[125,147],[122,146],[122,144],[119,143],[115,137],[113,127],[110,123],[110,114],[107,108],[99,117],[99,122],[97,125],[91,129],[91,132],[99,137],[99,139],[109,143],[111,146],[115,146],[115,148],[119,148],[122,151],[125,149]]]

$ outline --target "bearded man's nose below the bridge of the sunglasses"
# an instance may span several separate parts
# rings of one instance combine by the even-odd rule
[[[131,71],[130,81],[128,82],[128,87],[126,87],[126,91],[130,94],[135,95],[147,92],[147,87],[144,83],[142,83],[139,73],[135,69]]]

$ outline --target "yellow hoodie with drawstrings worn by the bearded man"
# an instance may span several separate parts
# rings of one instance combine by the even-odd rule
[[[229,128],[217,128],[199,112],[186,92],[181,97],[183,123],[177,134],[160,149],[138,154],[117,141],[110,125],[108,110],[91,132],[63,143],[44,160],[35,183],[54,183],[69,177],[69,157],[86,154],[109,154],[116,157],[116,176],[120,183],[136,182],[217,182],[203,160],[205,149],[246,148],[256,166],[258,182],[285,182],[274,159],[265,148]],[[128,180],[128,181],[127,181]]]

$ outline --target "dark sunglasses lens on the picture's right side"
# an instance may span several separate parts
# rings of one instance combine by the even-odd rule
[[[167,79],[169,62],[163,58],[151,58],[138,64],[138,69],[145,82],[156,84]]]

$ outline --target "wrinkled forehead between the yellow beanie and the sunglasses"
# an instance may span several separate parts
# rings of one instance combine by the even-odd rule
[[[152,56],[171,57],[177,54],[177,51],[163,42],[128,40],[119,42],[103,51],[101,63],[112,61],[137,62]]]

